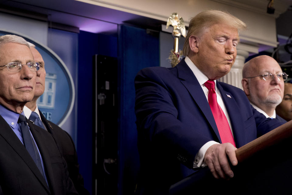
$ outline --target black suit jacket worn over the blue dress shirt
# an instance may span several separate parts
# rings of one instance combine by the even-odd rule
[[[0,195],[77,195],[54,137],[26,119],[43,158],[48,185],[24,145],[0,115]]]

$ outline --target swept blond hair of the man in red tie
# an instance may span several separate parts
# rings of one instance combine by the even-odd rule
[[[189,21],[189,30],[183,45],[183,55],[189,54],[189,37],[192,35],[201,36],[209,27],[216,23],[224,23],[238,30],[246,30],[247,26],[237,17],[219,10],[206,10],[198,13]]]

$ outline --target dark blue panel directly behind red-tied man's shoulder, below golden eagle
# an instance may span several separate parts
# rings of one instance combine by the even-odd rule
[[[142,68],[159,66],[159,36],[147,34],[146,29],[125,25],[119,26],[118,34],[120,68],[118,190],[119,194],[133,194],[139,172],[134,78]]]

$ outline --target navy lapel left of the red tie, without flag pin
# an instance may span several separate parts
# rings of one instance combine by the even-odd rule
[[[189,93],[193,97],[194,101],[196,102],[200,110],[203,112],[204,116],[206,117],[207,121],[209,122],[214,133],[216,134],[218,140],[221,143],[220,135],[219,135],[211,108],[204,94],[204,91],[202,87],[200,86],[200,83],[196,79],[196,76],[193,74],[192,70],[186,64],[184,59],[181,62],[179,62],[176,68],[178,70],[178,77],[182,79],[181,83],[189,91]]]

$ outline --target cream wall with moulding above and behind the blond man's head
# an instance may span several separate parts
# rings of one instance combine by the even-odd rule
[[[77,0],[111,9],[146,16],[167,21],[171,13],[177,12],[179,17],[188,26],[189,19],[199,12],[208,9],[227,11],[248,24],[249,29],[240,33],[242,40],[251,41],[252,44],[263,44],[271,47],[277,46],[276,15],[266,13],[264,7],[257,8],[233,0]],[[249,1],[251,2],[251,1]],[[258,5],[257,5],[258,6]]]

